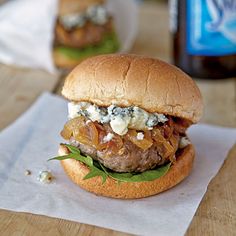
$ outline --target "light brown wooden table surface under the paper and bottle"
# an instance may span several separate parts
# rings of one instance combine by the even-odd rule
[[[168,10],[163,3],[140,8],[132,53],[170,61]],[[63,78],[40,70],[0,65],[0,130],[10,125],[43,91],[60,93]],[[202,122],[236,127],[235,78],[197,80],[205,102]],[[236,146],[208,186],[186,235],[236,235]],[[0,235],[128,235],[67,220],[0,210]],[[157,232],[158,235],[158,232]]]

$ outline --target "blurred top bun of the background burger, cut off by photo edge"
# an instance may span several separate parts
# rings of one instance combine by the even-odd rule
[[[59,15],[84,12],[91,5],[103,4],[104,0],[60,0]]]

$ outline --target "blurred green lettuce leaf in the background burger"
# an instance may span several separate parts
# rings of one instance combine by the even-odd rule
[[[118,51],[120,44],[115,32],[104,36],[103,40],[98,45],[91,45],[85,48],[71,48],[66,46],[57,46],[55,51],[63,54],[72,60],[82,60],[91,55],[106,54]]]

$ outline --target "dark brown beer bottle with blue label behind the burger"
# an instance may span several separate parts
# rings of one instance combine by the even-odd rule
[[[193,77],[236,76],[236,0],[171,0],[174,63]]]

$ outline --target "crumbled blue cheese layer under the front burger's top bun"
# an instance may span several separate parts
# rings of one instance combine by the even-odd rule
[[[125,135],[129,128],[150,130],[158,123],[168,121],[168,118],[163,114],[148,113],[137,106],[123,108],[111,105],[104,108],[89,102],[68,103],[68,114],[69,119],[82,115],[93,122],[109,123],[112,130],[119,135]]]

